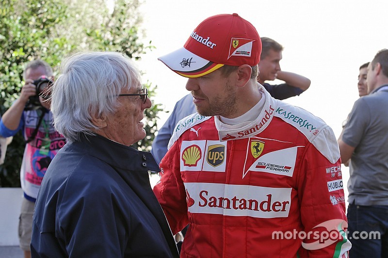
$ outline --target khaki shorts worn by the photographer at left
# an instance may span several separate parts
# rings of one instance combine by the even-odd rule
[[[23,251],[30,251],[32,235],[32,214],[35,203],[23,197],[19,217],[19,243]]]

